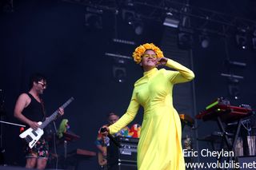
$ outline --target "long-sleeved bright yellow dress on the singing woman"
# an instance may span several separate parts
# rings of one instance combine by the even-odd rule
[[[194,73],[178,62],[168,59],[166,66],[178,71],[151,69],[134,84],[134,92],[126,113],[110,134],[134,120],[139,105],[144,108],[141,136],[138,143],[138,170],[182,170],[182,129],[173,106],[174,84],[191,81]]]

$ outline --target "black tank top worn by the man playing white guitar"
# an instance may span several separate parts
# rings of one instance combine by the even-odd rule
[[[30,93],[26,94],[29,95],[31,101],[30,105],[23,109],[22,114],[30,121],[43,121],[45,117],[43,105],[35,100]]]

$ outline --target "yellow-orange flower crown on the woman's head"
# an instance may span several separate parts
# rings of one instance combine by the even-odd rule
[[[145,53],[146,50],[153,50],[154,53],[157,55],[158,58],[163,57],[163,53],[161,49],[159,49],[156,45],[153,43],[146,43],[143,45],[139,45],[133,53],[134,61],[138,64],[142,61],[142,55]]]

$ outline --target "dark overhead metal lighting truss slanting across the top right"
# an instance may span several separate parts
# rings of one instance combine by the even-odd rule
[[[202,7],[191,6],[189,0],[178,2],[174,0],[62,0],[63,2],[77,3],[83,6],[90,6],[101,10],[110,10],[119,14],[121,10],[131,10],[138,18],[152,22],[162,22],[166,15],[181,21],[182,27],[189,27],[192,30],[204,31],[205,33],[218,34],[222,36],[244,28],[252,30],[256,22],[246,18],[239,18],[224,14],[215,10],[208,10]],[[187,21],[185,21],[187,20]],[[190,22],[186,25],[185,22]]]

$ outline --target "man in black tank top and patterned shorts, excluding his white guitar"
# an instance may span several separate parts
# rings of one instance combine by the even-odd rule
[[[36,130],[38,121],[46,118],[45,108],[40,95],[46,89],[46,77],[40,73],[34,74],[30,79],[30,91],[22,93],[14,108],[14,117],[18,118],[30,128]],[[63,115],[64,110],[58,109],[58,114]],[[28,144],[25,147],[26,153],[26,168],[45,169],[49,156],[49,145],[44,136],[38,140],[33,148]]]

